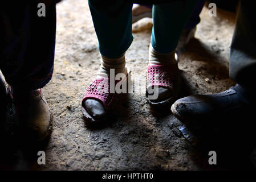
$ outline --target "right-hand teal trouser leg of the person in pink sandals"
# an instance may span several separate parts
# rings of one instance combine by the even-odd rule
[[[153,5],[151,44],[157,52],[174,51],[196,3],[197,0],[184,0]]]

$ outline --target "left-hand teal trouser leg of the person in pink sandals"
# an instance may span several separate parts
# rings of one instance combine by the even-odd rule
[[[101,55],[116,58],[131,46],[132,3],[88,0]]]

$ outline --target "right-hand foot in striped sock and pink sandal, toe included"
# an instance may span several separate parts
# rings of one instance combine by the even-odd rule
[[[180,90],[180,73],[175,53],[149,48],[146,97],[152,106],[172,104]]]

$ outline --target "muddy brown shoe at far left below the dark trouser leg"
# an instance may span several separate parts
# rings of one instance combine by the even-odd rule
[[[49,137],[52,130],[52,115],[42,90],[11,90],[11,97],[14,113],[25,137],[38,142]]]

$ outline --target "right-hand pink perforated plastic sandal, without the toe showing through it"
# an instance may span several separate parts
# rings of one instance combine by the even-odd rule
[[[166,66],[166,65],[148,65],[147,72],[147,91],[146,97],[152,106],[162,106],[166,104],[172,104],[178,93],[180,91],[180,72],[176,65]],[[168,88],[172,93],[172,96],[168,99],[160,102],[152,102],[148,97],[148,89],[152,86],[159,86],[163,88]]]

